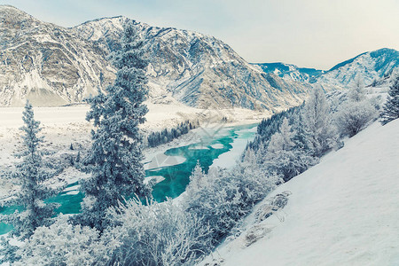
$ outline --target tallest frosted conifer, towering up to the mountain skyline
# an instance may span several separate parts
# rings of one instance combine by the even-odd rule
[[[144,42],[132,23],[125,26],[121,50],[113,53],[113,65],[118,69],[116,79],[90,98],[88,121],[94,121],[92,146],[85,164],[91,173],[82,183],[85,200],[76,222],[106,228],[106,209],[116,206],[123,197],[133,194],[150,195],[143,184],[145,170],[142,160],[142,135],[138,125],[145,121],[147,107],[147,78],[143,59]]]

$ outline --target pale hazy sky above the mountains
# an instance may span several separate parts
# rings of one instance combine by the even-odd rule
[[[72,27],[124,15],[214,35],[248,62],[329,69],[364,51],[399,50],[399,0],[0,0]]]

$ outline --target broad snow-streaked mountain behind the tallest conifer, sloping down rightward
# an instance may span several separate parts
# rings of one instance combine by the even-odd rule
[[[74,29],[108,53],[118,49],[121,28],[128,21],[124,17],[105,18]],[[146,41],[150,93],[157,102],[176,99],[189,106],[275,109],[299,103],[310,88],[262,73],[213,36],[137,21],[134,24]]]

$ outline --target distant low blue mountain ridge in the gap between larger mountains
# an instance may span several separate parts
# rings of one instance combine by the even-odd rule
[[[262,63],[254,64],[260,66],[264,73],[277,74],[283,78],[290,78],[297,82],[316,82],[316,77],[325,73],[323,70],[315,68],[299,67],[292,64],[285,63]]]

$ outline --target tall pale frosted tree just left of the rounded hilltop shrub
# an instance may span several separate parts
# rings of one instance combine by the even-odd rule
[[[310,93],[302,109],[301,121],[312,155],[320,157],[336,144],[338,137],[332,123],[330,105],[320,87]]]

